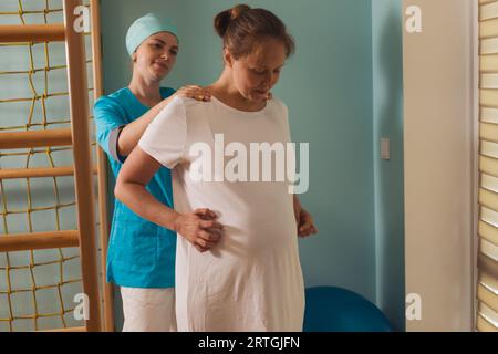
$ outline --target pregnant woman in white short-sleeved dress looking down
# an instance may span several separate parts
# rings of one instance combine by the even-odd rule
[[[301,331],[304,287],[297,236],[317,230],[288,183],[256,180],[261,166],[249,164],[245,154],[255,144],[290,142],[287,106],[267,98],[294,44],[281,20],[264,9],[222,11],[215,28],[224,40],[225,69],[206,87],[211,101],[177,97],[165,107],[124,164],[115,194],[138,215],[178,232],[179,331]],[[221,140],[234,148],[220,160]],[[226,176],[229,155],[237,155],[237,178]],[[277,160],[270,166],[276,175]],[[173,170],[176,218],[145,188],[160,166]],[[180,237],[188,230],[177,222],[199,208],[212,210],[222,225],[211,233],[219,242],[206,240],[209,249],[203,252]]]

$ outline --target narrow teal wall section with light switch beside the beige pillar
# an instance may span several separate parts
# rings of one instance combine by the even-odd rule
[[[372,2],[373,159],[375,183],[376,299],[404,330],[403,22],[400,0]],[[391,159],[381,159],[381,138]]]

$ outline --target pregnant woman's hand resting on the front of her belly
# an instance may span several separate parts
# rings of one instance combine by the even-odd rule
[[[221,238],[224,227],[218,216],[207,209],[180,214],[175,220],[175,231],[186,238],[199,252],[206,252]]]

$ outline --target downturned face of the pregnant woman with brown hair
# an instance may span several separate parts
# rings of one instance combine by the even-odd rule
[[[286,63],[286,48],[279,40],[267,39],[247,56],[231,62],[234,84],[251,102],[264,102],[280,79]]]

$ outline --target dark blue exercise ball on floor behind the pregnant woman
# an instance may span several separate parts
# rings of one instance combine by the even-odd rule
[[[390,321],[372,302],[338,287],[305,290],[304,332],[392,332]]]

